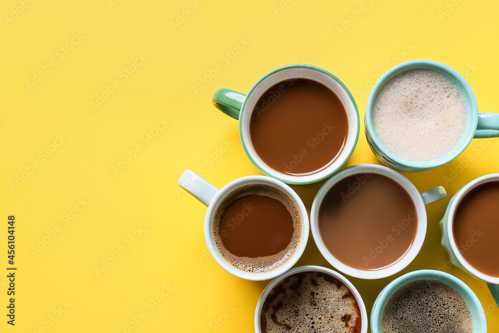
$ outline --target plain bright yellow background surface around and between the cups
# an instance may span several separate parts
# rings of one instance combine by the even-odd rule
[[[141,314],[131,332],[253,332],[268,281],[235,278],[215,263],[203,235],[206,207],[177,185],[185,169],[218,188],[260,174],[243,151],[237,122],[212,106],[219,87],[247,92],[290,63],[331,71],[352,92],[362,119],[346,166],[378,163],[363,132],[367,96],[402,61],[450,65],[468,79],[482,112],[497,111],[497,1],[111,1],[1,2],[0,332],[127,332],[124,325]],[[137,54],[147,59],[134,68]],[[37,84],[27,82],[50,63]],[[125,67],[136,69],[126,80]],[[98,100],[106,87],[113,93]],[[448,165],[406,174],[420,191],[444,185],[448,198],[427,207],[425,244],[404,271],[376,281],[350,278],[368,313],[394,278],[440,269],[473,289],[489,332],[499,332],[486,284],[448,266],[438,227],[459,188],[499,171],[498,151],[499,139],[474,140]],[[119,169],[127,154],[135,158]],[[473,161],[460,168],[467,157]],[[321,184],[292,187],[310,209]],[[65,214],[72,220],[61,220]],[[8,215],[16,221],[15,327],[5,316]],[[140,237],[131,241],[134,232]],[[96,273],[106,260],[112,265]],[[311,237],[297,266],[310,264],[330,268]],[[154,298],[161,302],[153,308]]]

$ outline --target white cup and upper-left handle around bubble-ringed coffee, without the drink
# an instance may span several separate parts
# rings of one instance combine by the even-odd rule
[[[283,182],[266,176],[248,176],[236,179],[227,184],[226,186],[224,186],[221,190],[219,190],[210,183],[208,183],[207,181],[205,181],[203,178],[195,174],[194,172],[186,170],[184,171],[182,176],[180,176],[178,183],[187,192],[192,194],[196,199],[198,199],[203,204],[208,206],[208,211],[206,212],[205,216],[206,245],[208,246],[208,250],[210,251],[215,261],[224,270],[231,273],[232,275],[242,279],[253,280],[253,281],[272,279],[286,272],[291,267],[293,267],[293,265],[296,264],[298,259],[303,254],[303,251],[305,250],[305,246],[308,240],[308,232],[309,232],[308,214],[305,209],[305,205],[303,205],[303,202],[301,201],[300,197],[296,194],[296,192],[294,192],[289,186],[287,186]],[[232,266],[220,254],[213,238],[213,218],[220,203],[232,191],[249,184],[269,185],[281,190],[289,198],[293,200],[294,204],[298,208],[301,217],[301,238],[298,247],[284,264],[269,272],[250,273],[250,272],[241,271],[236,267]]]

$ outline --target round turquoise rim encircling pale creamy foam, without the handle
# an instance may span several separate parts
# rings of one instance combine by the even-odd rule
[[[447,78],[450,78],[451,81],[457,83],[458,88],[465,97],[465,101],[468,106],[468,111],[469,111],[468,126],[465,135],[461,139],[461,142],[449,154],[435,161],[415,162],[401,158],[393,154],[381,142],[378,135],[376,134],[376,131],[374,130],[372,109],[374,108],[374,103],[376,101],[376,97],[378,96],[379,91],[386,84],[386,82],[388,82],[388,80],[393,78],[395,75],[398,75],[402,72],[411,69],[430,69],[444,75]],[[403,169],[430,170],[452,161],[453,159],[458,157],[466,149],[466,147],[468,147],[468,145],[470,144],[471,140],[475,135],[477,126],[478,126],[478,105],[477,105],[477,99],[475,97],[475,94],[473,93],[470,84],[461,74],[459,74],[453,68],[433,60],[420,59],[420,60],[406,61],[389,69],[376,82],[367,101],[366,114],[365,114],[365,127],[366,127],[366,132],[368,132],[370,135],[370,140],[373,141],[374,145],[378,148],[379,151],[382,152],[383,155],[385,155],[394,164],[401,166]]]

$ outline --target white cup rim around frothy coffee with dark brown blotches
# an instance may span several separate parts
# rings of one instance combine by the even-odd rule
[[[258,303],[256,304],[256,310],[254,312],[254,332],[256,333],[261,333],[261,327],[260,327],[260,315],[261,315],[261,309],[263,308],[263,303],[265,302],[265,299],[268,296],[268,293],[272,290],[272,288],[275,287],[282,279],[293,275],[295,273],[301,273],[301,272],[322,272],[325,274],[329,274],[330,276],[335,277],[339,281],[341,281],[345,286],[348,287],[348,289],[352,292],[353,296],[355,297],[355,300],[357,301],[357,304],[359,305],[359,310],[360,310],[360,319],[362,321],[362,326],[361,330],[359,333],[367,333],[367,325],[368,325],[368,320],[367,320],[367,311],[366,311],[366,306],[364,305],[364,301],[362,300],[362,297],[360,296],[359,292],[357,289],[352,285],[350,281],[348,281],[344,276],[341,274],[330,270],[325,267],[321,266],[299,266],[295,267],[293,269],[290,269],[286,273],[282,274],[281,276],[278,276],[277,278],[273,279],[267,287],[263,290],[263,292],[260,295],[260,298],[258,299]]]

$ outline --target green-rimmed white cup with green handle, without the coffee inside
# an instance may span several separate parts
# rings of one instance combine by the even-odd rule
[[[292,79],[309,79],[319,82],[331,89],[341,100],[348,116],[348,134],[344,147],[334,161],[320,171],[307,175],[290,175],[273,170],[256,154],[250,138],[250,117],[260,97],[273,85]],[[285,91],[285,90],[284,90]],[[278,98],[278,96],[276,97]],[[269,101],[271,104],[272,102]],[[331,176],[338,171],[350,158],[359,138],[360,119],[355,100],[339,78],[325,69],[305,64],[295,64],[279,67],[261,77],[250,89],[248,94],[231,89],[218,89],[213,95],[213,105],[216,108],[239,120],[239,135],[246,155],[258,170],[267,176],[288,184],[310,184]],[[298,153],[298,152],[297,152]],[[291,160],[290,156],[290,160]]]

